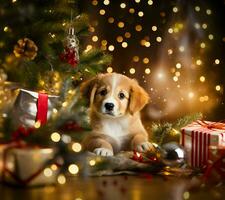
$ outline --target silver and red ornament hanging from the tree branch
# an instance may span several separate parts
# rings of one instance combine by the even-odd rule
[[[69,27],[68,35],[64,40],[64,51],[60,54],[60,59],[72,67],[76,67],[79,62],[79,40],[73,27]]]

